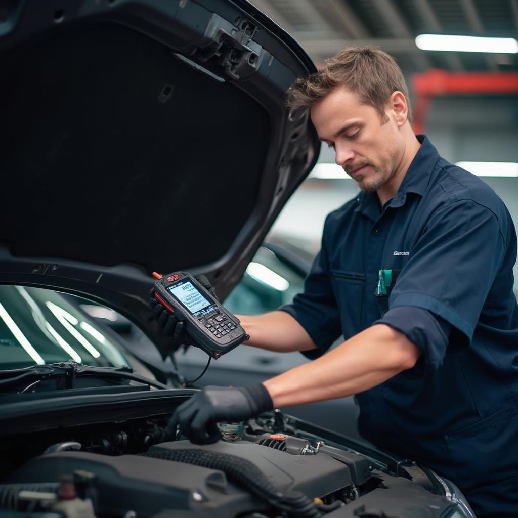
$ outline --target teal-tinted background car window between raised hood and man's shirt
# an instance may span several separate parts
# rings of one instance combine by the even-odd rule
[[[302,275],[282,262],[280,256],[261,247],[224,304],[238,314],[274,311],[290,303],[303,287]]]

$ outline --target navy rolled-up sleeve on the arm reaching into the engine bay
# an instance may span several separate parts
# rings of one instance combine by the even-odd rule
[[[491,210],[472,200],[437,210],[397,278],[389,311],[378,322],[407,335],[423,350],[427,365],[437,368],[447,346],[455,351],[469,346],[504,253]],[[451,327],[443,323],[441,329],[443,321]],[[441,336],[444,329],[449,341]]]

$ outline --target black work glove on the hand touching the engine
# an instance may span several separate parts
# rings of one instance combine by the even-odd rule
[[[166,439],[174,440],[176,427],[196,444],[211,444],[221,438],[216,423],[244,421],[274,408],[262,383],[249,387],[206,386],[172,414],[165,429]]]

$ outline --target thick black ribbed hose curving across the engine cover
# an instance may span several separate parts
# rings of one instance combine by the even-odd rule
[[[235,455],[194,449],[148,452],[140,455],[223,471],[235,484],[243,486],[255,496],[266,500],[272,507],[296,518],[320,518],[324,514],[317,507],[318,504],[304,493],[279,491],[257,466]]]

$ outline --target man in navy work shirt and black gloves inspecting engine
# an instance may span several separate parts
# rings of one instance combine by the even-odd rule
[[[339,52],[294,83],[288,104],[310,110],[361,193],[328,215],[304,293],[239,318],[249,346],[313,361],[251,387],[205,387],[171,426],[214,442],[217,421],[355,394],[363,437],[452,480],[477,516],[516,516],[516,232],[505,205],[414,135],[405,80],[377,48]]]

